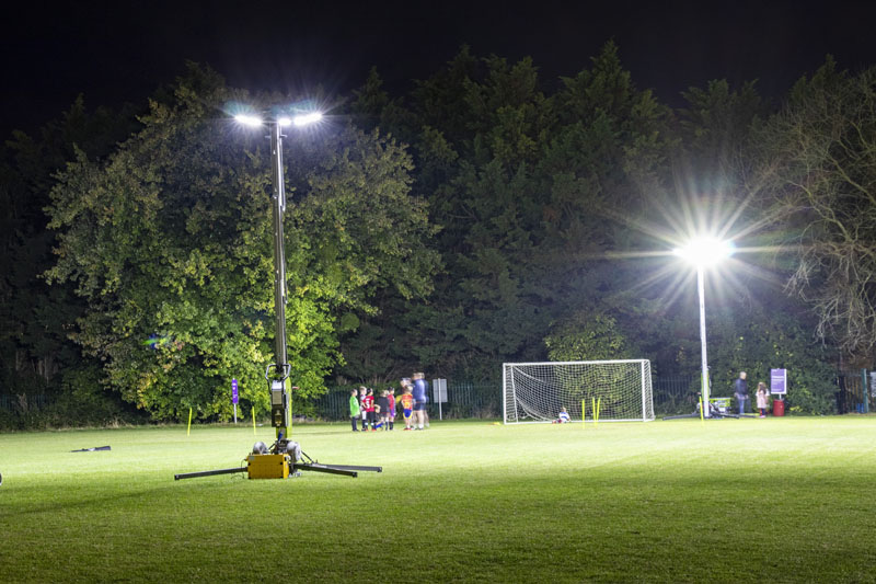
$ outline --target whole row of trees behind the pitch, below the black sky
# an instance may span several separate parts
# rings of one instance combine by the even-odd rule
[[[330,122],[285,141],[295,383],[630,357],[694,374],[695,277],[670,251],[712,232],[739,248],[706,283],[714,387],[785,367],[792,411],[835,411],[837,369],[876,344],[874,75],[828,59],[775,103],[716,80],[673,110],[612,44],[550,92],[530,60],[463,48],[404,95],[376,70],[318,95]],[[232,377],[266,406],[269,152],[230,113],[288,99],[192,66],[139,111],[80,99],[12,135],[0,427],[227,419]]]

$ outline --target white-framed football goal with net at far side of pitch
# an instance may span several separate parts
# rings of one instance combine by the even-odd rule
[[[570,420],[654,420],[647,359],[503,365],[506,424],[552,422],[562,408]]]

